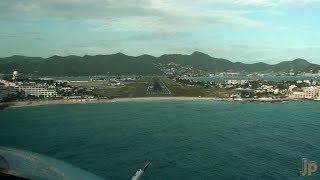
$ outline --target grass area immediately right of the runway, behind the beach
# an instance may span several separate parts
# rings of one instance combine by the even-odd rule
[[[204,86],[182,85],[167,77],[162,77],[161,80],[170,89],[173,96],[187,96],[187,97],[224,97],[229,91]]]

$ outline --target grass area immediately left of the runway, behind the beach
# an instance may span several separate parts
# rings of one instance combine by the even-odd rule
[[[106,87],[94,91],[98,97],[121,98],[121,97],[144,97],[150,83],[150,77],[143,77],[136,82],[119,87]]]

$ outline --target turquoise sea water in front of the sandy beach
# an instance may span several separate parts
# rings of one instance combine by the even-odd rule
[[[115,102],[0,111],[0,145],[69,162],[106,179],[319,179],[320,103]]]

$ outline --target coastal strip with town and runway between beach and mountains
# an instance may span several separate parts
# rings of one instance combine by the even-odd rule
[[[232,101],[277,102],[285,100],[320,100],[319,74],[282,74],[266,80],[259,76],[209,74],[167,76],[90,76],[90,77],[30,77],[13,71],[0,79],[0,101],[63,100],[92,102],[114,98],[196,97]],[[281,80],[282,77],[291,77]],[[303,77],[303,78],[301,78]],[[278,78],[278,80],[277,80]],[[218,79],[218,80],[217,80]],[[280,80],[279,80],[280,79]]]

